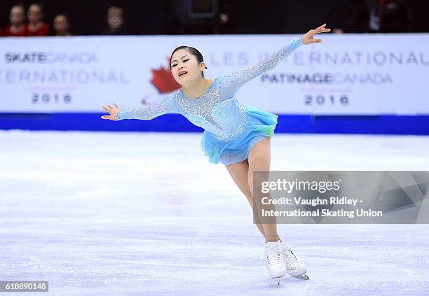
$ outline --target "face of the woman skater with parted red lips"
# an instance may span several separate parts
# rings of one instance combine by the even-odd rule
[[[172,75],[180,85],[202,78],[201,73],[205,69],[204,62],[198,63],[196,56],[186,49],[179,49],[173,53],[170,66]]]

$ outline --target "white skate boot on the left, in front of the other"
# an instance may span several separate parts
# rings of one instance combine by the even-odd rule
[[[280,278],[286,275],[285,258],[283,257],[280,241],[269,241],[264,247],[266,268],[272,279],[277,279],[280,285]]]

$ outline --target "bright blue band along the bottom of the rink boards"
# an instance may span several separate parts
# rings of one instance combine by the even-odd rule
[[[178,114],[153,120],[111,121],[104,113],[2,113],[0,129],[203,132]],[[279,115],[276,133],[429,134],[429,115]]]

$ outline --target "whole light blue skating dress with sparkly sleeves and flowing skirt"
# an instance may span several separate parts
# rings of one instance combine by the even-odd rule
[[[177,90],[158,105],[121,110],[117,118],[151,120],[165,113],[180,113],[194,125],[203,127],[200,146],[209,162],[225,165],[241,162],[255,143],[273,137],[278,116],[241,104],[236,92],[247,81],[273,69],[302,44],[302,37],[297,38],[254,66],[214,79],[201,97],[191,99]]]

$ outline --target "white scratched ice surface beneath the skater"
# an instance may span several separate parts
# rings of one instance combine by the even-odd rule
[[[198,133],[0,131],[1,295],[429,295],[429,225],[279,225],[310,281],[268,277],[264,238]],[[271,170],[425,170],[428,136],[275,134]]]

